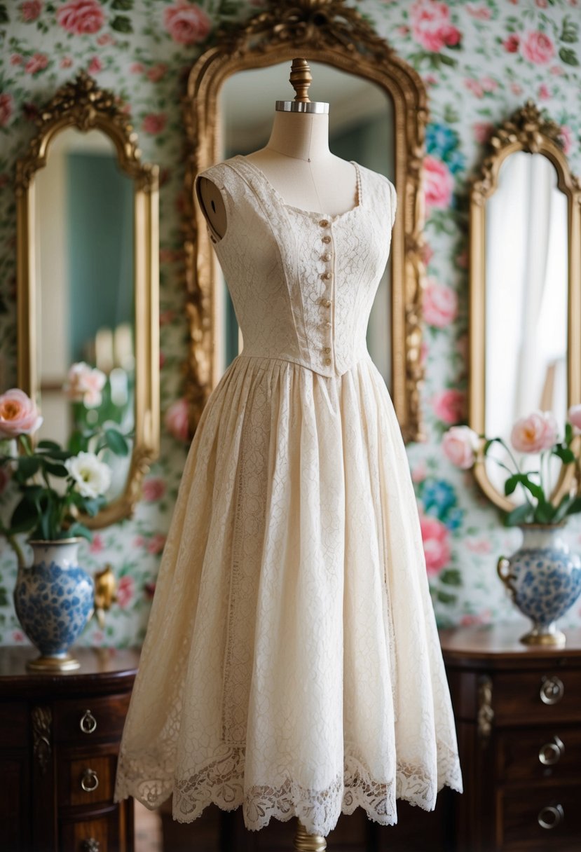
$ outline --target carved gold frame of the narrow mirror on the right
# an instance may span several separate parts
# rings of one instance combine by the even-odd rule
[[[492,134],[489,141],[492,153],[484,159],[471,188],[469,425],[479,435],[484,434],[486,425],[486,199],[498,188],[503,162],[517,151],[548,158],[555,166],[557,187],[567,196],[567,399],[569,406],[581,403],[581,185],[569,169],[560,136],[559,125],[544,118],[538,107],[527,101]],[[493,504],[507,512],[515,508],[492,485],[483,458],[477,460],[474,470],[476,481]],[[574,466],[561,467],[551,494],[555,504],[571,491],[574,480]]]

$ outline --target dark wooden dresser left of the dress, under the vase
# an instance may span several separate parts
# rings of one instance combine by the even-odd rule
[[[138,654],[77,649],[70,674],[31,674],[0,648],[0,849],[131,852],[133,803],[113,803]]]

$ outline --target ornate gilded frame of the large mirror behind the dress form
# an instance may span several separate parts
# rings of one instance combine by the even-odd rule
[[[394,104],[395,188],[398,212],[391,248],[392,389],[405,440],[422,440],[420,387],[423,292],[423,164],[426,93],[417,73],[394,54],[356,9],[338,0],[269,3],[244,26],[221,32],[192,68],[184,101],[189,152],[186,166],[186,275],[190,354],[187,400],[195,429],[216,385],[217,266],[204,218],[194,202],[198,172],[221,157],[217,101],[222,83],[249,68],[296,56],[356,73],[383,89]],[[289,87],[290,88],[290,87]],[[281,93],[281,98],[285,92]],[[331,107],[332,108],[332,107]],[[388,239],[388,235],[386,235]]]

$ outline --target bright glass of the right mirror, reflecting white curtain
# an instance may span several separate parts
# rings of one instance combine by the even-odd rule
[[[509,443],[519,417],[551,411],[563,434],[567,415],[567,195],[542,154],[519,151],[503,162],[486,200],[486,436]],[[498,445],[491,452],[510,464]],[[539,457],[522,459],[538,470]],[[551,488],[561,463],[542,471]],[[503,492],[506,474],[486,462]],[[522,492],[510,498],[523,501]]]

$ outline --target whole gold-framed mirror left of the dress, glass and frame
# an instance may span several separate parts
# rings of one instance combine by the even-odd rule
[[[84,72],[36,121],[16,167],[18,385],[42,409],[41,438],[66,443],[79,417],[129,434],[130,457],[106,459],[106,506],[83,519],[106,527],[131,515],[158,455],[158,167],[141,163],[115,95]],[[106,376],[86,407],[65,390],[78,362]]]

